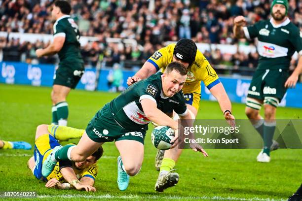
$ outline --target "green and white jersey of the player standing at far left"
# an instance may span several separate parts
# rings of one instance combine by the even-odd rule
[[[53,35],[54,38],[57,36],[65,37],[63,47],[58,52],[60,63],[83,63],[83,59],[80,53],[80,34],[74,19],[72,19],[70,15],[64,15],[56,20],[53,25]]]

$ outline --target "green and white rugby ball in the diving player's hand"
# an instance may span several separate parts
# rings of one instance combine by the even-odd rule
[[[157,126],[153,129],[151,133],[151,141],[155,148],[160,150],[168,150],[170,149],[171,143],[170,141],[174,139],[175,132],[168,126]]]

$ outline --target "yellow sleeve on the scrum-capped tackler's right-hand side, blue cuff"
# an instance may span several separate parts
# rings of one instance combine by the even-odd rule
[[[213,67],[211,67],[209,61],[199,50],[197,50],[194,65],[196,72],[193,73],[196,74],[198,80],[203,81],[204,85],[208,89],[211,89],[212,87],[220,83],[216,71]]]

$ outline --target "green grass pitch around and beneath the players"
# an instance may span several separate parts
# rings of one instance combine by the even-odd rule
[[[0,139],[25,140],[34,144],[36,127],[51,121],[51,88],[0,84]],[[117,94],[72,91],[68,97],[69,126],[85,128],[106,102]],[[237,119],[246,119],[243,104],[233,104]],[[278,108],[277,119],[298,119],[302,109]],[[222,119],[217,102],[201,101],[197,119]],[[145,140],[145,159],[140,174],[131,177],[127,191],[120,192],[116,185],[116,157],[114,143],[105,143],[104,158],[99,161],[96,193],[76,190],[46,189],[26,167],[33,150],[0,150],[0,191],[36,191],[45,200],[62,200],[62,195],[78,196],[74,200],[284,200],[302,182],[302,150],[282,149],[272,153],[269,164],[256,162],[260,150],[208,149],[204,158],[200,153],[184,150],[176,168],[180,174],[177,186],[156,193],[154,184],[157,171],[153,167],[156,149]],[[46,197],[45,197],[46,196]],[[91,196],[91,197],[80,197]],[[12,199],[16,200],[16,199]]]

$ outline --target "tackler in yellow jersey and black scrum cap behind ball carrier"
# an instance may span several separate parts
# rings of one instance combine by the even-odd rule
[[[197,50],[196,44],[187,38],[183,38],[177,44],[170,44],[159,49],[144,64],[144,66],[133,76],[129,77],[127,84],[145,79],[161,69],[165,71],[165,67],[172,61],[182,63],[188,70],[188,76],[183,88],[186,98],[187,107],[191,114],[191,119],[195,119],[200,102],[201,81],[209,89],[211,94],[218,100],[225,119],[231,126],[234,126],[234,116],[231,114],[231,103],[223,84],[220,82],[215,70],[211,67],[208,60],[203,54]],[[174,119],[178,116],[175,115]],[[164,155],[163,155],[164,153]],[[175,147],[165,152],[158,151],[155,158],[155,168],[159,169],[155,190],[164,191],[168,187],[172,187],[178,183],[179,175],[171,172],[176,161],[180,157],[182,149]]]

